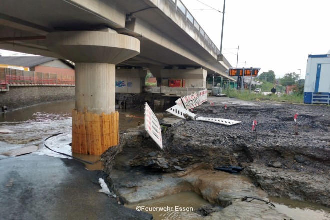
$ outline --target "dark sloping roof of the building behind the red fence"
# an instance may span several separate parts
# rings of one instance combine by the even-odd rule
[[[17,65],[32,68],[34,66],[56,60],[58,58],[45,57],[45,56],[0,56],[0,64]],[[68,65],[73,66],[66,60],[59,59]]]

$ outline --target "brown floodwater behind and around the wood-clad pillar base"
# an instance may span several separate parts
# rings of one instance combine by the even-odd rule
[[[10,134],[0,134],[0,154],[23,146],[35,145],[39,149],[34,152],[38,155],[48,155],[60,158],[67,156],[55,153],[51,149],[68,155],[71,153],[71,110],[74,108],[74,101],[59,101],[45,104],[38,104],[22,109],[8,111],[0,114],[0,128],[14,131]],[[119,110],[119,130],[136,127],[144,123],[144,112],[133,110]],[[60,135],[47,137],[61,133]],[[74,157],[93,162],[94,165],[85,163],[89,170],[102,169],[102,162],[98,155],[84,155],[73,153]]]

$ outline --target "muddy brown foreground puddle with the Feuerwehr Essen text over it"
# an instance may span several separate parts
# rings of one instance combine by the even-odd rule
[[[196,212],[197,208],[207,205],[200,195],[192,191],[180,192],[150,201],[125,205],[134,210],[152,214],[155,220],[170,219],[202,219]]]

